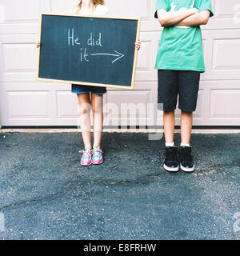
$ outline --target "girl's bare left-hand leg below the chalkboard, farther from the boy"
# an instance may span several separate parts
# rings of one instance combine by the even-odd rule
[[[91,119],[90,119],[90,94],[78,94],[78,111],[80,115],[80,125],[82,130],[82,140],[86,148],[91,145]]]

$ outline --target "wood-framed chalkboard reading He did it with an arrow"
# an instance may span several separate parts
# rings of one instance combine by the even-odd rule
[[[37,79],[134,89],[140,18],[41,14]]]

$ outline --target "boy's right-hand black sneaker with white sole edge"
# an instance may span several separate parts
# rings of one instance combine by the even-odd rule
[[[179,146],[180,167],[183,171],[194,171],[193,157],[191,154],[191,146]]]

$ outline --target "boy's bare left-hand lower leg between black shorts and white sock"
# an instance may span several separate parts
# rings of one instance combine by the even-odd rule
[[[164,136],[166,143],[174,142],[174,110],[163,113]]]

